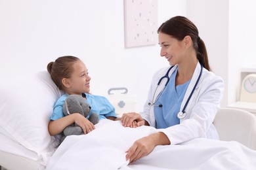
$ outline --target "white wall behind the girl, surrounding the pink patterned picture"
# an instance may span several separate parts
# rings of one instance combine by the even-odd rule
[[[125,49],[123,9],[121,0],[0,0],[1,81],[73,55],[87,65],[92,93],[125,86],[141,110],[152,74],[168,63],[158,45]],[[186,15],[186,1],[161,0],[158,9],[160,25]]]

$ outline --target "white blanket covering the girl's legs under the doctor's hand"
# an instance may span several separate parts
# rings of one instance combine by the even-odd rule
[[[256,151],[237,142],[193,139],[179,145],[156,146],[134,163],[125,151],[154,127],[123,127],[101,120],[87,135],[66,137],[47,169],[256,169]]]

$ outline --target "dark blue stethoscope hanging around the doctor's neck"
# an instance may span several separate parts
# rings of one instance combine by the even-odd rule
[[[148,105],[150,105],[150,106],[153,106],[153,105],[154,105],[154,106],[156,106],[156,107],[163,107],[163,105],[155,105],[155,103],[156,103],[156,101],[158,101],[159,97],[161,96],[161,93],[163,93],[163,90],[164,90],[165,87],[167,86],[167,84],[168,84],[168,82],[169,82],[169,80],[170,80],[170,78],[169,78],[169,72],[171,71],[171,69],[173,69],[173,67],[174,67],[174,65],[171,66],[171,67],[168,69],[167,73],[166,73],[164,76],[162,76],[162,77],[160,78],[160,80],[158,81],[158,86],[156,87],[156,90],[155,90],[155,92],[154,92],[153,99],[152,99],[152,103],[148,103]],[[194,88],[192,89],[192,92],[191,92],[190,95],[188,96],[188,99],[186,100],[186,103],[185,103],[185,105],[184,105],[182,111],[178,112],[178,114],[177,114],[177,117],[178,117],[179,119],[182,119],[182,118],[186,117],[186,112],[185,112],[186,106],[188,105],[188,102],[190,101],[190,98],[191,98],[192,94],[194,93],[194,91],[195,91],[195,89],[196,89],[196,86],[198,85],[198,82],[199,82],[199,80],[200,80],[200,78],[201,78],[201,76],[202,76],[202,72],[203,72],[203,65],[201,64],[201,71],[200,71],[200,75],[198,76],[198,80],[196,80],[196,84],[194,85]],[[162,89],[161,92],[159,93],[158,97],[156,97],[156,99],[155,99],[155,101],[154,101],[154,98],[155,98],[155,95],[156,95],[156,91],[158,90],[158,87],[159,87],[159,85],[161,84],[161,81],[162,81],[164,78],[167,79],[167,81],[165,82],[165,86],[163,87],[163,89]]]

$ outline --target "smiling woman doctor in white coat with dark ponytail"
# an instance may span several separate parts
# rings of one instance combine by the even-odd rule
[[[224,84],[210,70],[196,25],[175,16],[161,24],[158,33],[160,55],[171,66],[154,74],[144,111],[126,113],[121,118],[125,127],[156,127],[127,150],[130,162],[148,155],[157,145],[179,144],[198,137],[219,139],[213,120]]]

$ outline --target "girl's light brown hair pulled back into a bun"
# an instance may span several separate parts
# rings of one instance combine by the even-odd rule
[[[79,58],[76,58],[74,56],[62,56],[47,65],[47,71],[50,73],[53,82],[60,90],[64,90],[62,78],[71,77],[74,71],[74,68],[72,66],[77,61],[79,61]]]

